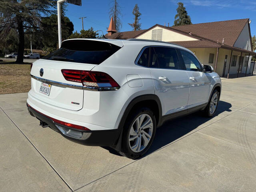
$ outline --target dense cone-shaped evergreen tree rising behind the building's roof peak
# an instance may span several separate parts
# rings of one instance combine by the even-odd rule
[[[190,16],[186,11],[186,8],[183,6],[183,3],[179,2],[177,10],[177,14],[175,15],[174,25],[173,26],[180,26],[180,25],[189,25],[192,24]]]

